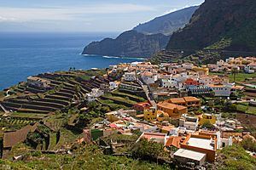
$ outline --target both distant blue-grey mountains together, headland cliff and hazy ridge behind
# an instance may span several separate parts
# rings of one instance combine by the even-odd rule
[[[160,49],[166,48],[170,39],[170,36],[166,35],[185,26],[196,8],[184,8],[158,17],[135,27],[132,31],[125,31],[116,39],[106,38],[101,42],[91,42],[82,54],[148,58]]]

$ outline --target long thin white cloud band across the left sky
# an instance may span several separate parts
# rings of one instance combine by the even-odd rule
[[[98,4],[70,8],[3,8],[0,7],[0,21],[27,22],[42,20],[87,20],[85,15],[96,14],[129,14],[135,12],[154,11],[149,6],[130,3]]]

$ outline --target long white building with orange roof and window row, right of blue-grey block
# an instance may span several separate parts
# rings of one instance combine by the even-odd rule
[[[215,96],[218,97],[230,97],[232,85],[224,85],[224,84],[211,84],[209,85],[212,88]]]

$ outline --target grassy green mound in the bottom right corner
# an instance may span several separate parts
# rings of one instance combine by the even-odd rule
[[[219,151],[218,169],[243,169],[252,170],[256,168],[256,160],[249,156],[240,145],[233,144],[232,146],[224,147]]]

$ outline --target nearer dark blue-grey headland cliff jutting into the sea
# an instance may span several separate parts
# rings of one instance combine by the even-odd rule
[[[150,57],[169,41],[163,34],[144,35],[137,31],[125,31],[116,39],[105,38],[101,42],[91,42],[83,54],[100,54],[124,57]]]

